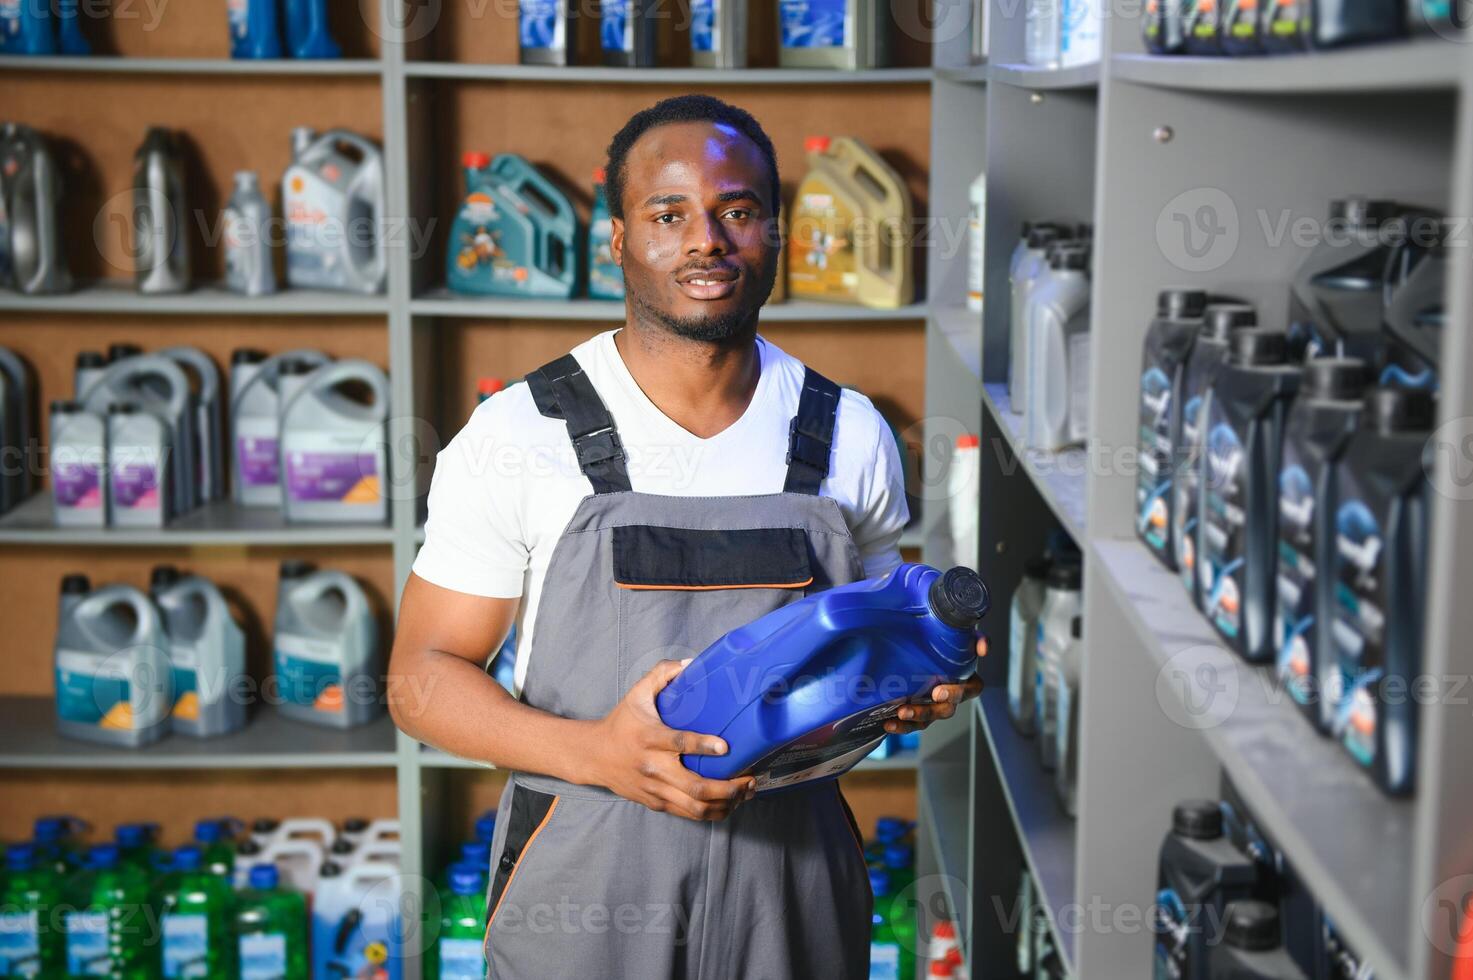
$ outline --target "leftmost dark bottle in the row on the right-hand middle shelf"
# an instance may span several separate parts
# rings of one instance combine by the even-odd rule
[[[1140,363],[1140,455],[1136,473],[1136,535],[1170,569],[1171,476],[1181,447],[1181,380],[1192,343],[1202,329],[1206,293],[1162,289],[1156,318],[1146,332]]]

